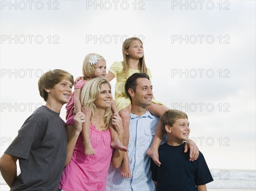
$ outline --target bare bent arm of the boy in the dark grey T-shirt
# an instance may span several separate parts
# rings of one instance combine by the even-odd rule
[[[17,178],[17,160],[18,157],[5,153],[0,158],[0,171],[3,179],[6,181],[10,188]]]

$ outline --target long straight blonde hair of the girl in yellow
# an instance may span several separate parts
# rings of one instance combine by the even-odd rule
[[[137,38],[137,37],[131,37],[131,38],[128,38],[126,39],[123,44],[122,44],[122,53],[123,53],[123,72],[128,75],[128,69],[130,68],[130,65],[129,65],[129,57],[127,54],[125,54],[125,50],[127,50],[131,43],[132,42],[136,42],[136,40],[139,40],[140,43],[142,43],[142,41]],[[142,43],[143,44],[143,43]],[[145,58],[144,58],[144,55],[143,57],[140,58],[139,60],[139,70],[140,70],[140,73],[147,73],[147,67],[146,67],[146,64],[145,64]]]

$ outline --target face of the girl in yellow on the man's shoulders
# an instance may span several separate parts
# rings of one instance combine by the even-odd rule
[[[139,60],[144,56],[143,44],[140,40],[132,40],[128,49],[125,49],[125,54],[128,55],[129,59]]]

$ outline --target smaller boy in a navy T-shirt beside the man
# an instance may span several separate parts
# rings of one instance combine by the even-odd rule
[[[188,116],[178,110],[167,110],[160,121],[168,141],[159,147],[161,166],[151,160],[152,179],[157,191],[206,191],[212,176],[199,151],[196,161],[189,161],[189,153],[184,153],[183,141],[189,140]]]

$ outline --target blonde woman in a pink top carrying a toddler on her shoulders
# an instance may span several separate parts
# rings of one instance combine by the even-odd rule
[[[108,168],[113,149],[109,128],[115,128],[119,140],[123,138],[122,118],[118,114],[111,117],[111,86],[105,78],[96,77],[85,83],[81,90],[81,104],[90,108],[90,137],[95,154],[85,155],[81,134],[67,148],[66,167],[59,188],[64,191],[105,191]],[[87,119],[86,119],[87,120]],[[74,124],[67,125],[67,137],[71,137]],[[123,153],[123,152],[122,152]],[[115,154],[115,152],[114,152]],[[112,161],[112,165],[114,161]]]

